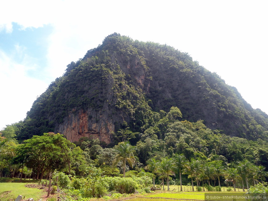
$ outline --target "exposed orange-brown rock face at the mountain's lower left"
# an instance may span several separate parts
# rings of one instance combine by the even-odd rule
[[[107,119],[101,114],[92,115],[92,113],[94,112],[83,112],[82,110],[77,114],[70,113],[64,118],[63,123],[56,126],[55,132],[63,134],[71,142],[87,137],[89,139],[99,139],[99,141],[104,141],[107,144],[110,143],[112,141],[112,131],[115,129],[112,119]],[[98,122],[93,116],[96,116]]]

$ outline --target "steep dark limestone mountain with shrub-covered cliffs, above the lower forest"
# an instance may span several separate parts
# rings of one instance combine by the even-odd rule
[[[257,139],[268,128],[267,115],[234,87],[170,46],[112,34],[67,67],[33,104],[27,124],[35,129],[25,129],[21,139],[53,130],[72,142],[110,143],[122,123],[143,132],[172,106],[183,119],[202,119],[231,136]]]

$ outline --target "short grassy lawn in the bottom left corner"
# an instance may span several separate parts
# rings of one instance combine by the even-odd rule
[[[18,195],[22,195],[22,198],[25,196],[25,199],[33,198],[34,200],[39,200],[42,195],[46,194],[42,189],[25,187],[26,183],[14,183],[15,180],[9,178],[0,179],[0,199],[16,199]],[[33,182],[32,180],[30,181]]]

